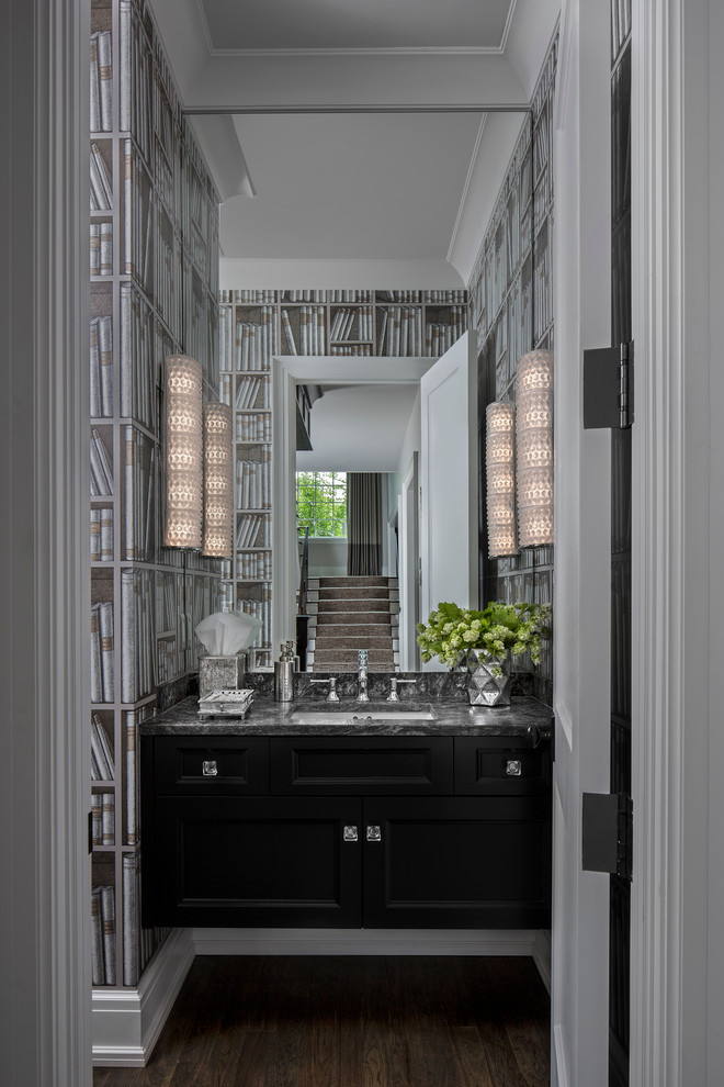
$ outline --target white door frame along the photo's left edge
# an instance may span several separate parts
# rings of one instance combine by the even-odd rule
[[[0,15],[4,1082],[91,1082],[88,0]]]

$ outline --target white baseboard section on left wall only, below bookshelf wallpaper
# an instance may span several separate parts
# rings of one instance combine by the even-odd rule
[[[93,989],[95,1066],[143,1067],[147,1063],[195,954],[191,930],[174,929],[137,988]]]

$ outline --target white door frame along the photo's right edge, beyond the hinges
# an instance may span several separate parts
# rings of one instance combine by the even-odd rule
[[[714,1087],[724,1067],[717,9],[633,5],[631,1080],[657,1087]]]

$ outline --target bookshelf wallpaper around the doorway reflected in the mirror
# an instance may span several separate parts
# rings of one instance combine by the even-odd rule
[[[252,666],[272,662],[273,355],[437,358],[466,328],[464,290],[222,291],[220,399],[236,419],[236,547],[223,563],[222,595],[262,620]]]

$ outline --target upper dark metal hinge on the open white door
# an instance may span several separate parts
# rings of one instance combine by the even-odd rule
[[[584,351],[584,429],[627,430],[633,422],[633,340]]]

